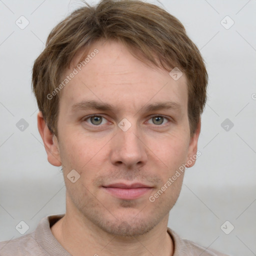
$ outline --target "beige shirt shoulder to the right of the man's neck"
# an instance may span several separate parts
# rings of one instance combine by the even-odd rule
[[[174,243],[173,256],[228,256],[227,254],[221,253],[211,248],[205,248],[190,240],[182,239],[169,227],[167,228],[167,232],[171,236]]]

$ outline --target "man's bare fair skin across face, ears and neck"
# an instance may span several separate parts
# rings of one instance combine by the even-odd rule
[[[166,227],[183,174],[154,202],[149,196],[197,151],[200,123],[190,136],[186,77],[183,74],[175,81],[166,70],[146,65],[118,42],[98,41],[89,52],[95,48],[99,52],[61,91],[57,138],[41,112],[37,115],[48,161],[62,165],[66,185],[66,213],[51,231],[75,256],[84,252],[172,255],[173,242]],[[73,63],[80,57],[81,52]],[[114,108],[71,111],[82,100]],[[159,102],[175,102],[179,107],[146,110],[146,105]],[[91,114],[98,115],[99,121],[91,122]],[[156,122],[154,115],[160,116]],[[118,127],[123,118],[131,124],[126,131]],[[74,183],[67,178],[72,169],[80,175]],[[125,200],[103,187],[135,182],[151,188],[138,198]]]

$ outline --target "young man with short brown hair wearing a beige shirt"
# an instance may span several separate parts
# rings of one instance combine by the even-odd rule
[[[207,72],[182,24],[153,4],[102,0],[49,34],[32,74],[66,212],[0,255],[223,255],[167,228],[199,151]]]

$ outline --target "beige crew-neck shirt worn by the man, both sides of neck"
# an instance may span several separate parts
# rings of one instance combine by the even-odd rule
[[[71,256],[56,240],[50,230],[50,227],[63,215],[44,217],[33,232],[13,240],[0,242],[0,256]],[[225,256],[220,252],[206,249],[191,241],[181,239],[168,227],[167,232],[173,240],[173,256]]]

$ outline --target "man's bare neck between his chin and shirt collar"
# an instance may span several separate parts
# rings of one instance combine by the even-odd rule
[[[78,212],[66,214],[52,227],[58,242],[73,256],[87,255],[173,255],[173,243],[167,233],[168,215],[152,230],[138,236],[109,234]]]

